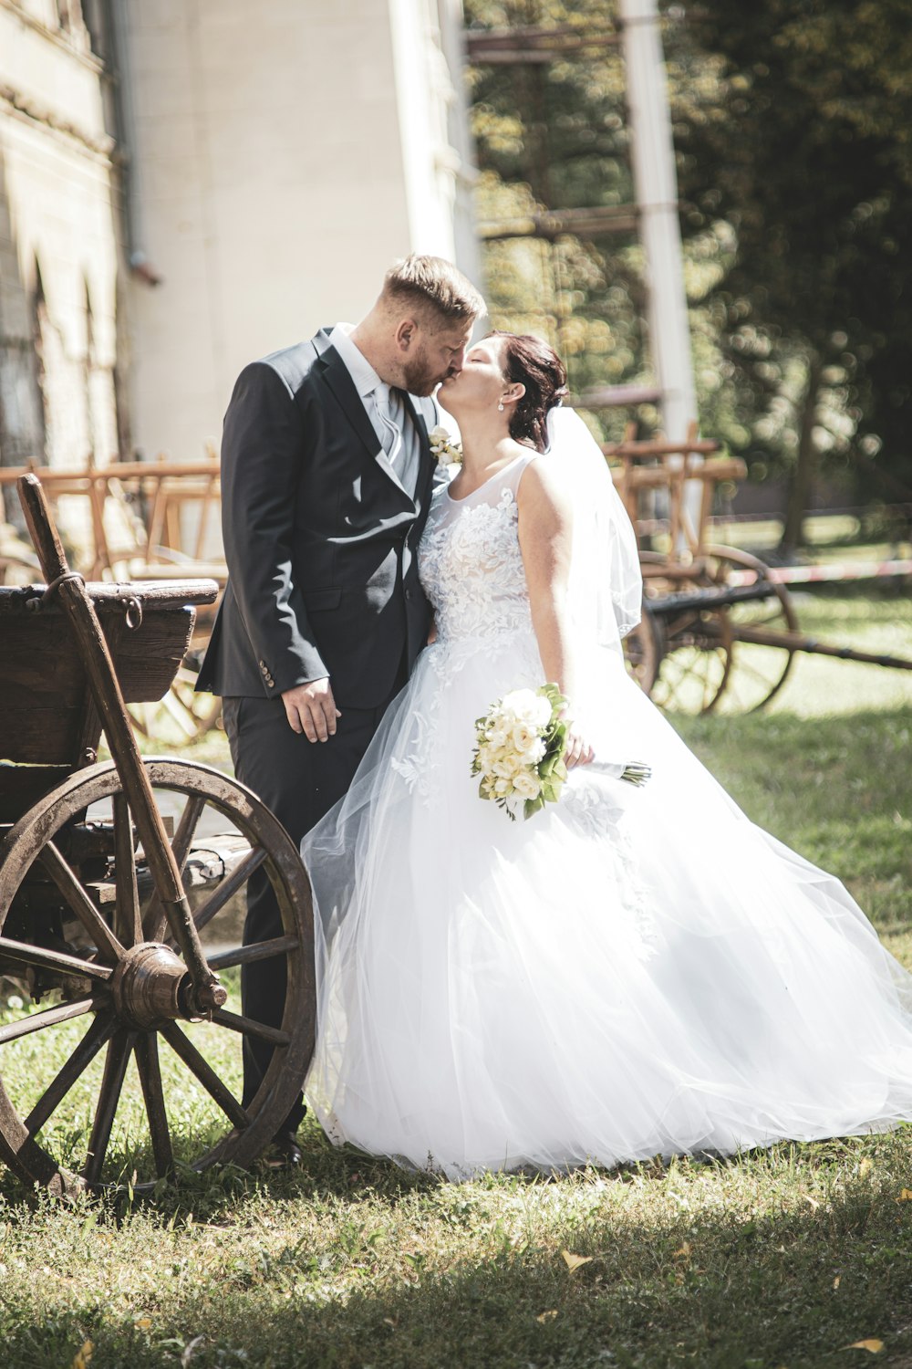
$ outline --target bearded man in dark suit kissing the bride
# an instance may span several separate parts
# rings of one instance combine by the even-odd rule
[[[429,396],[462,368],[484,311],[440,257],[387,271],[371,312],[238,378],[222,439],[228,583],[197,689],[223,697],[238,779],[297,843],[349,789],[427,642],[416,549],[433,485]],[[245,943],[282,935],[263,871]],[[278,1027],[284,961],[242,969],[243,1013]],[[243,1038],[243,1103],[272,1047]],[[275,1139],[291,1164],[298,1101]]]

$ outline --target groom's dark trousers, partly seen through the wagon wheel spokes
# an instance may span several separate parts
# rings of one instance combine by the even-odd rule
[[[280,698],[223,701],[224,730],[235,775],[275,813],[295,845],[347,791],[380,719],[405,684],[406,674],[403,661],[395,687],[381,706],[342,708],[336,734],[325,742],[309,742],[304,734],[293,732]],[[243,943],[282,935],[279,905],[264,871],[258,869],[247,882]],[[282,956],[242,968],[241,1010],[245,1016],[280,1027],[284,994]],[[267,1042],[243,1038],[245,1108],[260,1087],[272,1050]],[[304,1098],[298,1097],[287,1118],[290,1131],[297,1131],[304,1113]]]

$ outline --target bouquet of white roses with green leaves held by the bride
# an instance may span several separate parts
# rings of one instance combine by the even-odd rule
[[[492,704],[476,719],[477,746],[472,753],[472,773],[479,775],[479,794],[494,799],[510,821],[522,806],[532,817],[547,802],[556,804],[567,778],[563,761],[569,720],[566,698],[556,684],[537,690],[517,689]],[[628,765],[596,764],[600,773],[630,784],[645,784],[652,771],[640,761]]]

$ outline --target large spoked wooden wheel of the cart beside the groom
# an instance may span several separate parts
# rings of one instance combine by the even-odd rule
[[[208,815],[245,839],[234,869],[193,899],[193,919],[230,994],[237,967],[283,957],[284,1014],[269,1027],[231,1005],[200,1020],[113,763],[71,775],[0,847],[0,962],[55,999],[38,1008],[7,999],[0,1016],[0,1155],[26,1181],[56,1192],[118,1181],[142,1190],[180,1165],[249,1164],[284,1121],[313,1051],[312,901],[298,850],[256,795],[219,771],[172,760],[144,765],[159,809],[172,808],[171,847],[185,883],[191,842],[205,846],[212,827]],[[93,832],[105,831],[113,858],[93,864]],[[256,871],[272,884],[282,932],[242,947],[235,895]],[[55,920],[55,905],[70,916]],[[276,1049],[242,1108],[245,1038]]]

